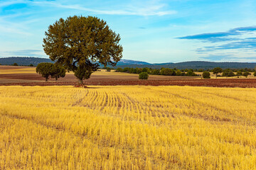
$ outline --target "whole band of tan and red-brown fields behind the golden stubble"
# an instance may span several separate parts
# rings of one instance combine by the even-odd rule
[[[36,74],[35,67],[0,66],[0,86],[63,86],[75,85],[78,80],[73,73],[67,73],[64,78],[46,82],[41,75]],[[198,77],[170,77],[150,75],[148,80],[139,80],[138,74],[119,72],[95,72],[91,78],[84,81],[86,85],[118,86],[213,86],[255,88],[256,79],[200,79]]]

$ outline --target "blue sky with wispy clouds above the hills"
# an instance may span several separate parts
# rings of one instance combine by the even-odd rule
[[[256,0],[0,0],[0,57],[48,57],[48,26],[74,15],[107,21],[124,59],[256,62]]]

